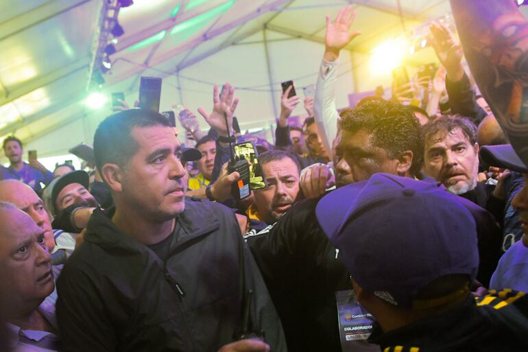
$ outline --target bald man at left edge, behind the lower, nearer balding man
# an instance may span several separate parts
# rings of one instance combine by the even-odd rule
[[[44,207],[44,202],[38,198],[35,191],[19,180],[0,181],[0,200],[10,202],[17,208],[27,213],[44,233],[47,249],[49,253],[55,255],[54,263],[60,260],[60,255],[66,253],[70,255],[75,249],[75,238],[64,231],[53,231],[51,220]],[[61,250],[64,250],[62,252]]]

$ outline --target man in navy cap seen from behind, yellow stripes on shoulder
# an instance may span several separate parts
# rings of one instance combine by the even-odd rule
[[[477,226],[442,186],[392,174],[337,189],[317,219],[339,248],[381,351],[528,351],[528,301],[503,290],[475,301]]]

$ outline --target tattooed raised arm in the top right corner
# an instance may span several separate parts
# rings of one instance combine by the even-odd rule
[[[528,165],[528,21],[515,1],[451,0],[451,8],[473,77]]]

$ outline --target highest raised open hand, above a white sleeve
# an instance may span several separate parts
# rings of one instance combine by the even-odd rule
[[[361,34],[360,31],[349,32],[355,16],[356,12],[350,6],[339,10],[339,14],[333,22],[330,20],[330,16],[326,15],[325,60],[335,61],[339,57],[339,51]]]

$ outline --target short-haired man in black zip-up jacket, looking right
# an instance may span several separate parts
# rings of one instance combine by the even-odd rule
[[[97,128],[94,150],[116,206],[94,211],[60,276],[65,349],[217,351],[242,333],[263,331],[274,351],[285,351],[235,215],[185,199],[180,143],[167,119],[141,109],[112,115]]]

